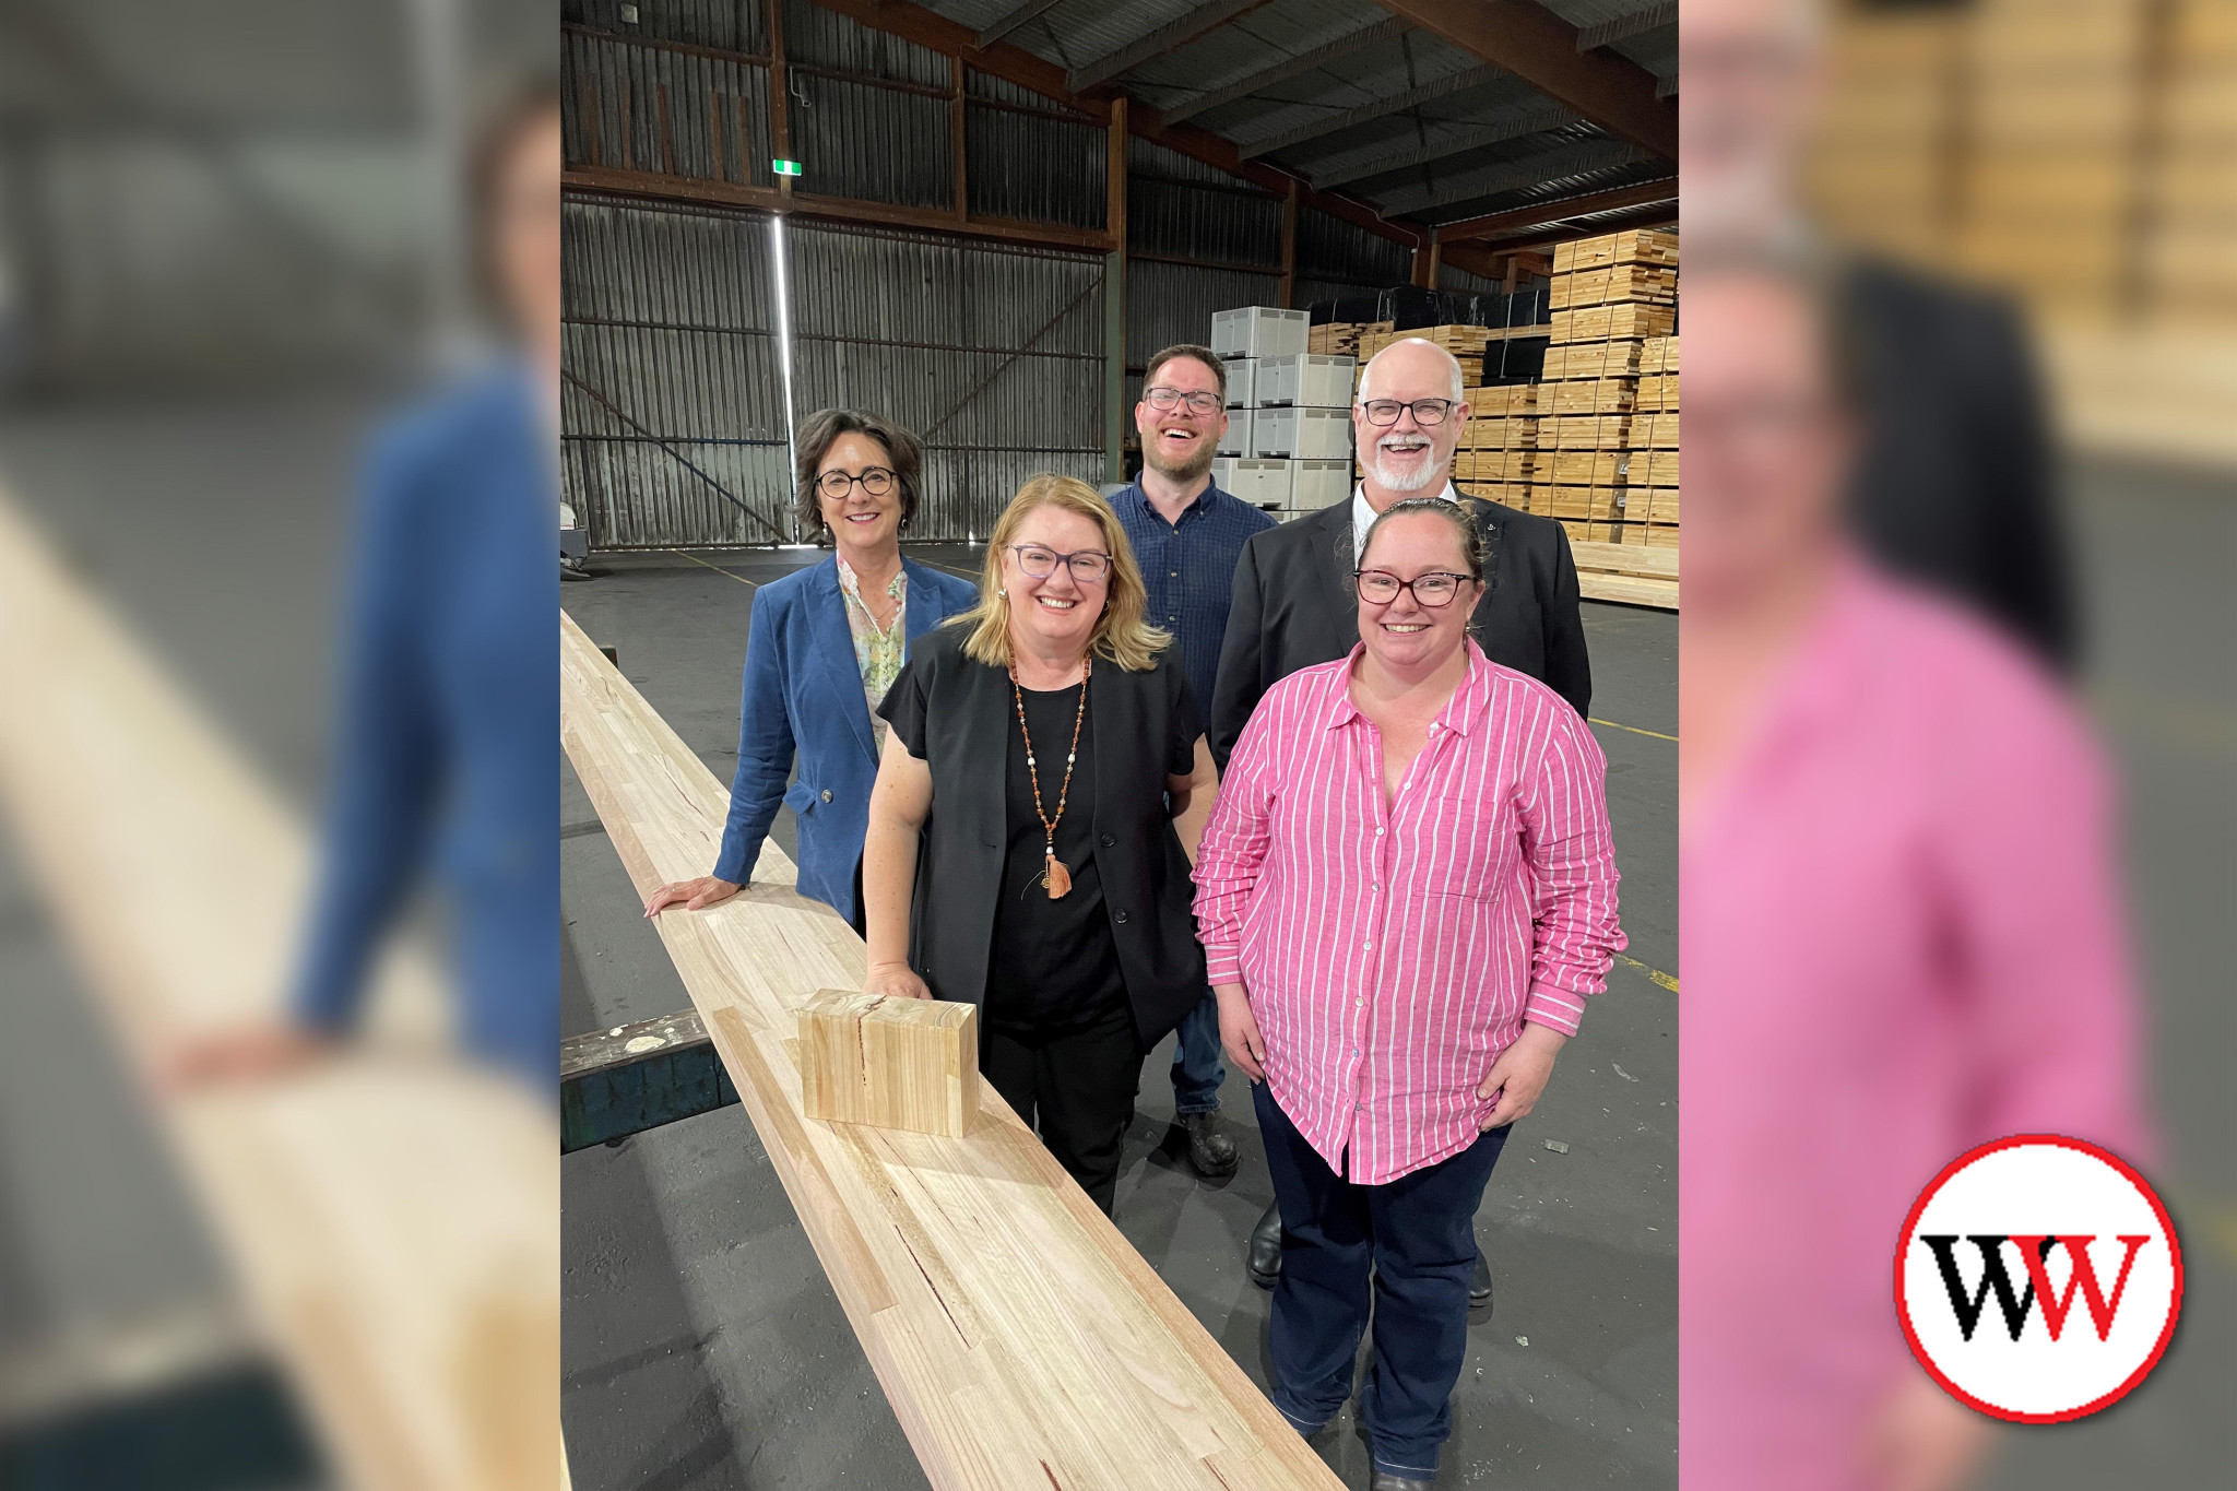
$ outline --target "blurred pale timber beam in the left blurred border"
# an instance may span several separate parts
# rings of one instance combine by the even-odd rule
[[[4,496],[0,637],[0,807],[128,1066],[275,1019],[309,836]],[[548,1491],[559,1129],[443,1008],[400,955],[365,1044],[145,1102],[336,1482]]]

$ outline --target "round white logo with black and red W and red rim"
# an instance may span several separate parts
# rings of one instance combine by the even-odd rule
[[[1895,1256],[1919,1364],[1957,1399],[2022,1424],[2125,1397],[2168,1350],[2181,1299],[2183,1254],[2159,1196],[2109,1151],[2060,1136],[1960,1156],[1910,1209]]]

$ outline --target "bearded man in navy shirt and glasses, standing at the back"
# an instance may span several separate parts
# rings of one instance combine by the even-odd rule
[[[1141,478],[1112,498],[1150,590],[1148,621],[1179,642],[1199,711],[1212,706],[1235,559],[1244,539],[1273,528],[1271,516],[1212,485],[1212,456],[1228,431],[1226,402],[1228,371],[1212,349],[1183,344],[1150,358],[1134,405]],[[1235,1174],[1235,1142],[1212,1122],[1226,1077],[1219,1004],[1204,990],[1172,1051],[1172,1109],[1199,1176]]]

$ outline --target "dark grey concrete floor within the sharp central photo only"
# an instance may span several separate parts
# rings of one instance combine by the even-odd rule
[[[960,545],[917,557],[975,574]],[[620,648],[622,673],[729,780],[754,586],[814,559],[606,557],[606,574],[566,586],[561,601]],[[1646,1489],[1678,1478],[1678,1010],[1646,975],[1678,975],[1678,756],[1667,740],[1678,731],[1678,628],[1667,612],[1588,604],[1586,633],[1593,715],[1611,722],[1595,733],[1635,961],[1617,963],[1476,1216],[1497,1305],[1470,1326],[1441,1482],[1452,1487]],[[687,1008],[573,773],[561,825],[564,1028]],[[776,834],[790,852],[790,814]],[[1116,1221],[1266,1386],[1271,1297],[1244,1270],[1244,1238],[1273,1189],[1248,1084],[1230,1071],[1221,1095],[1242,1167],[1204,1183],[1172,1142],[1170,1062],[1168,1037],[1143,1066]],[[564,1176],[564,1413],[577,1487],[924,1484],[743,1109],[579,1151]],[[1367,1482],[1356,1426],[1324,1453],[1347,1484]]]

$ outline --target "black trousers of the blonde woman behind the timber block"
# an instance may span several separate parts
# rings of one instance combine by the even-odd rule
[[[1060,1035],[987,1026],[980,1042],[980,1075],[1105,1216],[1118,1191],[1141,1062],[1132,1010]]]

